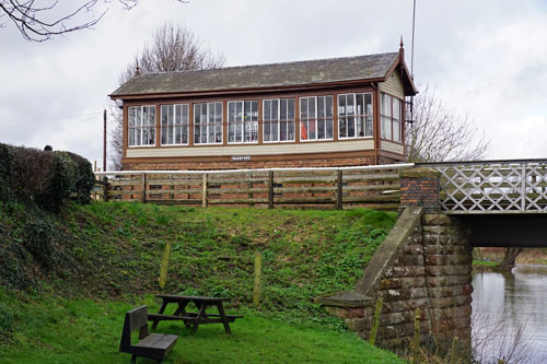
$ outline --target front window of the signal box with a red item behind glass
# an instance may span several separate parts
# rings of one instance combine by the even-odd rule
[[[300,140],[333,139],[333,96],[300,98]]]

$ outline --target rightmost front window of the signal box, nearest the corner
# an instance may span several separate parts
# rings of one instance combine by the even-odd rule
[[[338,138],[372,137],[372,93],[338,95]]]

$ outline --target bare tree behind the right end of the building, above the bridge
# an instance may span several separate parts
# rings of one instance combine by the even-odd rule
[[[414,122],[406,129],[409,162],[474,161],[489,141],[472,120],[451,110],[429,87],[414,99]],[[407,111],[410,115],[410,110]]]

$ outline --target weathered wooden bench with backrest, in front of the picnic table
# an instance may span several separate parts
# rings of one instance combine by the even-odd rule
[[[131,343],[131,332],[139,330],[139,342]],[[131,354],[131,363],[137,356],[155,359],[161,363],[176,343],[176,334],[149,333],[148,308],[140,306],[126,313],[119,351]]]

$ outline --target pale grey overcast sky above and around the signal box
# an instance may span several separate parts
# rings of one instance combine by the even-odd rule
[[[486,132],[488,158],[547,157],[547,0],[417,0],[416,17],[417,84]],[[397,51],[403,35],[410,67],[411,20],[411,0],[113,0],[94,30],[37,44],[0,17],[0,142],[102,165],[107,95],[165,21],[226,66]]]

